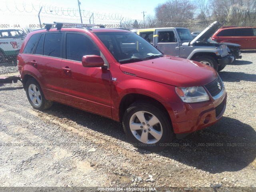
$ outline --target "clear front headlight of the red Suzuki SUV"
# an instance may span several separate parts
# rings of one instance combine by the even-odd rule
[[[209,96],[202,86],[176,87],[176,93],[185,103],[195,103],[209,100]]]

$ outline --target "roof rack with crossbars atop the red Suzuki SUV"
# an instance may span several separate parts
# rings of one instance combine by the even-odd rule
[[[50,30],[51,27],[55,26],[58,30],[62,27],[76,27],[76,28],[86,28],[87,30],[92,30],[91,27],[105,28],[104,25],[96,24],[84,24],[84,23],[67,23],[67,22],[53,22],[53,23],[43,23],[46,30]]]

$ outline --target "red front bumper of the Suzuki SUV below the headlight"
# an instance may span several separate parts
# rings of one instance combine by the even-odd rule
[[[217,100],[202,103],[172,104],[172,111],[168,111],[172,118],[174,133],[184,134],[194,132],[218,122],[226,109],[227,94],[224,92]]]

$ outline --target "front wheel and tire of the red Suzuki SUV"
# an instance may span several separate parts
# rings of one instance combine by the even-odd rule
[[[146,102],[135,102],[125,111],[123,128],[134,146],[146,150],[162,150],[166,142],[174,139],[167,115]]]

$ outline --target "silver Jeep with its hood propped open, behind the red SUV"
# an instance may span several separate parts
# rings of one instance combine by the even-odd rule
[[[234,56],[228,54],[226,44],[207,41],[220,26],[215,21],[194,39],[189,29],[180,27],[139,29],[134,32],[164,54],[198,61],[220,71],[234,61]]]

